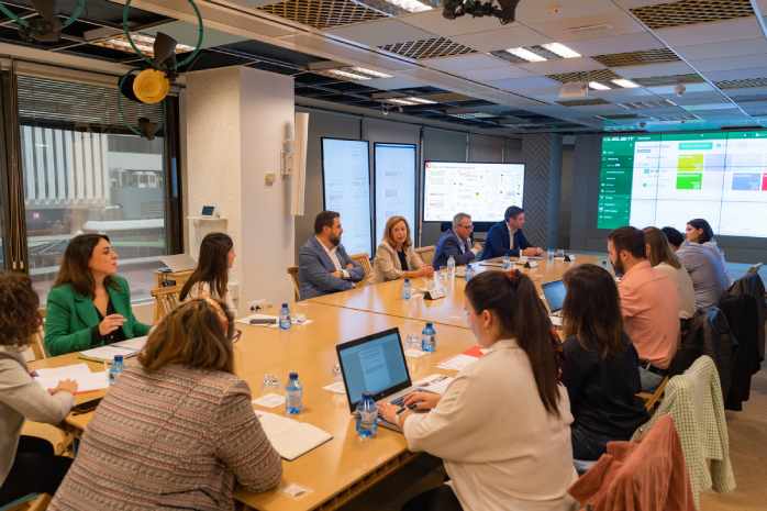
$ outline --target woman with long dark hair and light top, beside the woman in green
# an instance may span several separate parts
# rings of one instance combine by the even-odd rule
[[[229,292],[229,270],[234,265],[234,242],[224,233],[210,233],[200,244],[197,269],[181,289],[179,299],[191,300],[202,293],[226,303],[236,316],[232,293]]]

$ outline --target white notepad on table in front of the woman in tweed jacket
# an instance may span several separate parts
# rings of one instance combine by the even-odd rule
[[[279,455],[288,462],[303,456],[333,438],[330,433],[305,422],[260,410],[254,410],[254,412],[264,427],[266,437]]]

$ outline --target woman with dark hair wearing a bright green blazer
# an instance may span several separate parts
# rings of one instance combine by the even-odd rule
[[[51,356],[149,332],[151,326],[133,315],[127,281],[116,271],[118,255],[109,237],[80,234],[69,241],[45,311],[45,347]]]

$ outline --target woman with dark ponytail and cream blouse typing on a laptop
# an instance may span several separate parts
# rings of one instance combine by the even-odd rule
[[[378,403],[412,452],[445,464],[449,481],[403,511],[577,509],[570,402],[560,386],[562,348],[535,285],[519,270],[486,271],[466,285],[468,325],[486,348],[443,396],[411,393],[404,407]]]

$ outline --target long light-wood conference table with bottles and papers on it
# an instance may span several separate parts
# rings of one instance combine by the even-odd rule
[[[538,262],[537,268],[523,269],[536,284],[556,280],[570,267],[583,263],[597,263],[593,256],[577,256],[576,262]],[[499,270],[477,266],[477,271]],[[421,280],[423,281],[423,279]],[[235,374],[251,387],[253,399],[260,397],[266,375],[277,375],[282,389],[290,373],[298,373],[303,385],[303,410],[287,415],[284,406],[259,411],[290,416],[308,422],[333,435],[333,438],[300,456],[293,462],[284,460],[282,478],[278,488],[252,493],[236,487],[234,499],[245,510],[332,510],[365,491],[378,480],[408,464],[415,454],[408,451],[401,433],[383,427],[374,437],[357,435],[345,395],[323,387],[332,384],[332,369],[337,363],[335,346],[388,329],[399,329],[404,343],[409,333],[420,333],[426,321],[437,323],[436,351],[419,358],[407,358],[413,381],[433,374],[456,376],[457,371],[437,368],[436,365],[454,355],[476,346],[477,342],[466,325],[463,279],[441,281],[446,298],[426,302],[422,296],[403,303],[401,281],[336,293],[309,300],[308,319],[311,323],[294,324],[288,331],[237,323],[242,331],[235,344]],[[289,306],[290,309],[294,304]],[[367,308],[367,309],[365,309]],[[278,315],[278,309],[264,314]],[[62,367],[86,363],[91,371],[104,370],[103,364],[77,358],[68,354],[30,363],[31,369]],[[131,360],[131,363],[133,363]],[[76,396],[78,403],[103,397],[107,390]],[[69,413],[60,429],[80,437],[91,413]],[[305,492],[297,498],[288,496],[285,488],[297,484]]]

